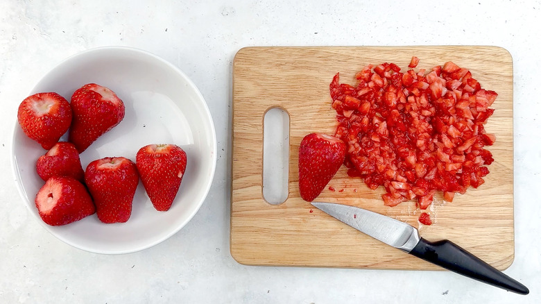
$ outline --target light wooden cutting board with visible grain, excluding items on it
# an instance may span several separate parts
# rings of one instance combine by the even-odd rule
[[[368,64],[395,62],[405,71],[411,56],[418,68],[453,61],[472,71],[483,88],[499,96],[486,130],[495,133],[489,147],[495,162],[478,189],[457,194],[452,203],[436,195],[431,226],[420,226],[415,202],[390,208],[384,189],[372,191],[342,167],[316,199],[356,205],[405,221],[429,240],[450,239],[497,269],[513,262],[513,62],[499,47],[248,47],[233,66],[232,195],[230,249],[249,265],[440,269],[329,217],[300,199],[298,146],[311,132],[334,134],[336,112],[329,83],[341,83]],[[280,205],[262,196],[263,118],[279,107],[289,113],[289,196]],[[381,188],[381,187],[380,187]]]

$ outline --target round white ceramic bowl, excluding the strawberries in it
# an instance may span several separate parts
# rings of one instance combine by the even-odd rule
[[[135,162],[137,151],[147,144],[176,144],[186,151],[188,163],[171,209],[155,210],[139,183],[126,223],[101,223],[94,214],[66,226],[47,225],[34,203],[44,185],[35,162],[46,151],[26,137],[16,123],[12,167],[19,193],[46,230],[85,251],[132,253],[159,244],[194,217],[214,178],[216,133],[207,104],[196,85],[177,67],[151,53],[126,47],[91,49],[67,58],[28,95],[57,92],[69,101],[71,94],[86,83],[98,83],[117,93],[126,106],[126,115],[81,153],[83,169],[92,160],[108,156],[124,156]],[[67,134],[61,140],[67,140]]]

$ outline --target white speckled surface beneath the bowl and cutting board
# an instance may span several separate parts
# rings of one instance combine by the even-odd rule
[[[357,3],[359,2],[359,3]],[[1,303],[541,303],[540,1],[0,1]],[[504,47],[513,56],[518,296],[447,271],[246,267],[229,252],[231,75],[247,46]],[[121,45],[155,53],[205,97],[214,184],[179,233],[128,255],[87,253],[31,217],[10,167],[17,107],[58,62]],[[487,236],[490,237],[490,236]]]

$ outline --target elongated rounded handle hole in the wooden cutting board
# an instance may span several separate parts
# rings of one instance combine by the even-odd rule
[[[289,113],[271,107],[263,115],[263,199],[280,205],[289,196]]]

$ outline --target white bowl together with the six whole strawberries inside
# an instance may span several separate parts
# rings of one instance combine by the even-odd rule
[[[139,49],[102,47],[67,58],[21,101],[12,168],[28,210],[55,237],[132,253],[198,212],[216,133],[180,69]]]

